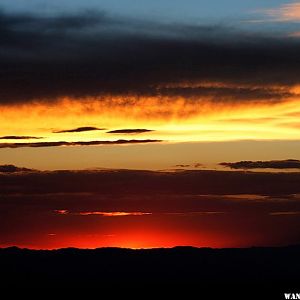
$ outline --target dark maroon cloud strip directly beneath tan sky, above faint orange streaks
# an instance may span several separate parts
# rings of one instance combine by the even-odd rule
[[[49,184],[51,182],[51,184]],[[78,184],[77,184],[78,183]],[[94,170],[37,172],[0,177],[0,191],[15,185],[23,194],[95,193],[118,195],[291,195],[300,193],[300,172],[268,173],[243,171],[185,170],[153,172],[135,170]]]

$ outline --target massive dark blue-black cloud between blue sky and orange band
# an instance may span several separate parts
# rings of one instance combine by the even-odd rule
[[[300,75],[298,40],[222,26],[1,13],[0,40],[1,103],[103,94],[281,100],[290,94],[259,86]],[[245,87],[189,87],[199,81]]]

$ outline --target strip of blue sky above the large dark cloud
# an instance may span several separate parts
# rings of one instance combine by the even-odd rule
[[[135,17],[137,15],[147,18],[164,17],[169,20],[187,21],[208,18],[229,18],[236,13],[248,14],[257,9],[274,8],[290,1],[281,0],[228,0],[206,1],[206,0],[187,0],[184,3],[180,0],[3,0],[3,9],[9,11],[35,11],[35,12],[61,12],[79,11],[81,9],[105,10],[109,13]]]

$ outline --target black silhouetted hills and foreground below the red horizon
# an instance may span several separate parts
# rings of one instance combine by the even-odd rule
[[[300,246],[131,250],[0,249],[3,287],[227,286],[300,292]],[[215,289],[216,291],[216,289]],[[283,297],[283,296],[282,296]],[[282,298],[283,299],[283,298]]]

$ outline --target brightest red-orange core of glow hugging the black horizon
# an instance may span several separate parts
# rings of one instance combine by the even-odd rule
[[[230,243],[220,236],[209,236],[205,234],[176,234],[174,232],[122,232],[119,234],[86,234],[86,235],[67,235],[50,233],[30,244],[14,243],[1,245],[1,247],[18,246],[30,249],[59,249],[59,248],[81,248],[95,249],[102,247],[120,247],[131,249],[151,249],[151,248],[172,248],[176,246],[193,247],[241,247],[242,243]],[[245,245],[247,246],[247,245]]]

